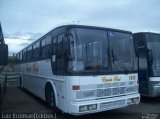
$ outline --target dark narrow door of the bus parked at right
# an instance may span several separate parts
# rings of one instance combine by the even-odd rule
[[[138,52],[138,80],[139,91],[143,95],[149,93],[149,81],[148,81],[148,65],[147,65],[147,52],[143,49],[139,49]]]

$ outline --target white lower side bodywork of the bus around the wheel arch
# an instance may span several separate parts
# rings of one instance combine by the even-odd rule
[[[46,101],[46,83],[53,82],[52,86],[55,88],[57,107],[66,112],[66,78],[64,76],[53,75],[50,64],[50,60],[41,60],[38,62],[19,64],[16,66],[16,69],[17,71],[23,71],[21,72],[23,79],[23,88],[29,90],[44,101]]]

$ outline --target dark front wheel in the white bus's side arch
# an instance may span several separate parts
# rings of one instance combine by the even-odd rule
[[[54,90],[51,84],[46,85],[45,95],[48,105],[54,110],[54,112],[57,112]]]

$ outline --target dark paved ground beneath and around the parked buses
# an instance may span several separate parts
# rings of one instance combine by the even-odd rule
[[[17,86],[8,86],[2,105],[1,118],[12,113],[46,113],[53,114],[45,102],[26,90]],[[150,117],[150,118],[142,118]],[[80,117],[66,116],[61,113],[56,115],[57,119],[160,119],[160,98],[143,98],[139,105],[132,105],[123,109],[116,109],[97,114]]]

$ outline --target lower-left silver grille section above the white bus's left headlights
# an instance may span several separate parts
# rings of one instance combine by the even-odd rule
[[[92,97],[95,97],[95,90],[77,91],[76,92],[77,99],[92,98]]]

